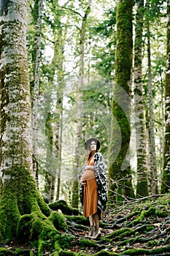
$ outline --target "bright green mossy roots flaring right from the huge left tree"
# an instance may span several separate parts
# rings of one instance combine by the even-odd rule
[[[36,241],[38,246],[38,255],[43,255],[45,251],[55,252],[58,255],[62,248],[61,231],[68,229],[63,214],[52,212],[50,217],[45,217],[41,211],[34,211],[20,217],[18,223],[18,238],[22,242]]]

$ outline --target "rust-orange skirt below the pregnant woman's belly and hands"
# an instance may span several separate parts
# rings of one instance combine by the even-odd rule
[[[98,211],[97,202],[98,191],[96,178],[91,178],[87,180],[87,186],[84,187],[83,215],[85,217],[98,213],[98,217],[101,219],[101,211]]]

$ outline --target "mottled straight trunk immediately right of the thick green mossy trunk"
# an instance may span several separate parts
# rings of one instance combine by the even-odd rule
[[[144,1],[137,2],[134,41],[134,109],[136,128],[137,184],[136,196],[148,195],[147,184],[147,140],[144,120],[144,99],[142,83]]]

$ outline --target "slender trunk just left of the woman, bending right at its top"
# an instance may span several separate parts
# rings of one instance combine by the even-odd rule
[[[77,135],[74,156],[74,173],[72,184],[72,207],[78,208],[79,206],[79,181],[78,175],[80,174],[80,159],[82,156],[82,86],[84,84],[84,55],[85,55],[85,26],[87,23],[88,14],[90,13],[91,1],[88,1],[88,7],[85,10],[85,15],[82,18],[82,27],[80,29],[80,73],[78,84],[78,99],[77,99]]]

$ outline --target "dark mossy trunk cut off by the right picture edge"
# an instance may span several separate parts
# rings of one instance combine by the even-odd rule
[[[161,184],[161,192],[169,192],[170,189],[170,1],[167,1],[167,42],[166,42],[166,131],[164,143],[164,159],[163,159],[163,179]]]

